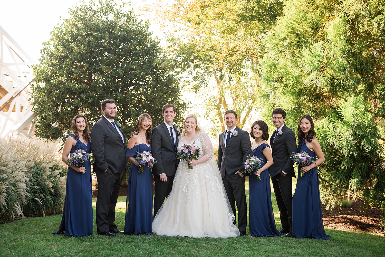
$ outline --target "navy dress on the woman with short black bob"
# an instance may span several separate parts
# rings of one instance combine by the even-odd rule
[[[251,155],[263,160],[261,168],[266,164],[266,157],[262,151],[270,148],[268,144],[261,144]],[[273,237],[281,235],[275,227],[273,206],[271,205],[271,189],[269,170],[261,172],[261,180],[252,174],[249,176],[249,231],[253,237]]]

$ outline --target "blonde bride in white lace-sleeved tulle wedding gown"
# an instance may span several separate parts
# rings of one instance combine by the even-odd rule
[[[239,230],[233,224],[234,214],[213,159],[213,146],[193,114],[184,120],[177,150],[189,143],[201,148],[200,156],[179,163],[171,193],[156,214],[152,230],[170,237],[236,237]],[[192,170],[188,164],[193,165]]]

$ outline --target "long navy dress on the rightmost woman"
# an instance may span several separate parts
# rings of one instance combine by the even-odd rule
[[[297,153],[307,152],[315,161],[315,153],[306,146],[305,139],[298,145]],[[303,173],[303,177],[299,175],[300,168],[293,196],[293,237],[329,239],[323,228],[317,167]]]

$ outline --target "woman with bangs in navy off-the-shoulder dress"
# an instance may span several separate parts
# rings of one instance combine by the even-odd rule
[[[139,116],[127,143],[126,157],[131,161],[128,177],[124,233],[152,234],[152,173],[135,159],[138,153],[151,153],[152,119],[147,113]]]

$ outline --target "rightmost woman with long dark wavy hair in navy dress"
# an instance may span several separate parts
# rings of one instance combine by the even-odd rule
[[[297,153],[306,152],[315,160],[298,167],[298,179],[293,196],[293,237],[329,239],[323,228],[320,186],[317,166],[325,161],[321,145],[315,137],[313,119],[303,115],[298,123]],[[317,155],[318,159],[315,158]],[[300,172],[304,176],[300,176]]]

